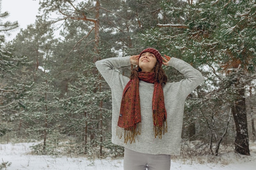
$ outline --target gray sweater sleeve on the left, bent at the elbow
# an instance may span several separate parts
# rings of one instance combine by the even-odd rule
[[[115,68],[120,68],[121,66],[129,66],[130,56],[106,58],[106,59],[95,62],[95,65],[99,70],[99,72],[101,73],[102,77],[106,80],[106,82],[110,86],[110,88],[113,88],[113,86],[115,85],[115,83],[117,83],[117,81],[118,82],[121,81],[121,83],[124,81],[123,83],[126,84],[126,81],[129,80],[128,77],[124,77],[120,75]]]

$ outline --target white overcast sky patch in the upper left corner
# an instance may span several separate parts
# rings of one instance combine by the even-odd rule
[[[11,32],[11,36],[6,39],[12,40],[20,29],[26,29],[27,25],[34,24],[38,14],[39,0],[0,0],[1,13],[9,12],[9,17],[3,21],[18,21],[20,27]]]

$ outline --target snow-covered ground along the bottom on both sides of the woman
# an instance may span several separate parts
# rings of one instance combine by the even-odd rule
[[[11,162],[3,170],[123,170],[123,159],[87,159],[30,155],[31,143],[0,144],[0,164]],[[216,157],[174,159],[171,170],[256,170],[256,144],[250,146],[251,156],[234,153]],[[207,161],[206,161],[207,160]],[[210,160],[210,161],[209,161]]]

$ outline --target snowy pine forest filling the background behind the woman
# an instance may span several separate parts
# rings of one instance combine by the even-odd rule
[[[186,99],[182,156],[250,155],[255,0],[40,0],[39,11],[10,42],[18,22],[0,13],[0,143],[36,141],[40,155],[123,155],[111,143],[111,91],[94,63],[154,47],[205,78]],[[129,76],[131,67],[116,71]],[[164,69],[170,82],[184,78]]]

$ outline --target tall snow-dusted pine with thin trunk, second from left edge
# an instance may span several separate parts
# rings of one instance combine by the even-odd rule
[[[9,46],[17,56],[27,56],[30,64],[19,72],[24,84],[20,85],[20,101],[25,109],[21,111],[18,132],[30,139],[42,139],[43,144],[36,148],[39,154],[58,154],[48,140],[50,135],[58,133],[58,88],[55,88],[52,29],[37,18],[35,24],[21,30]],[[57,139],[58,140],[58,139]]]

